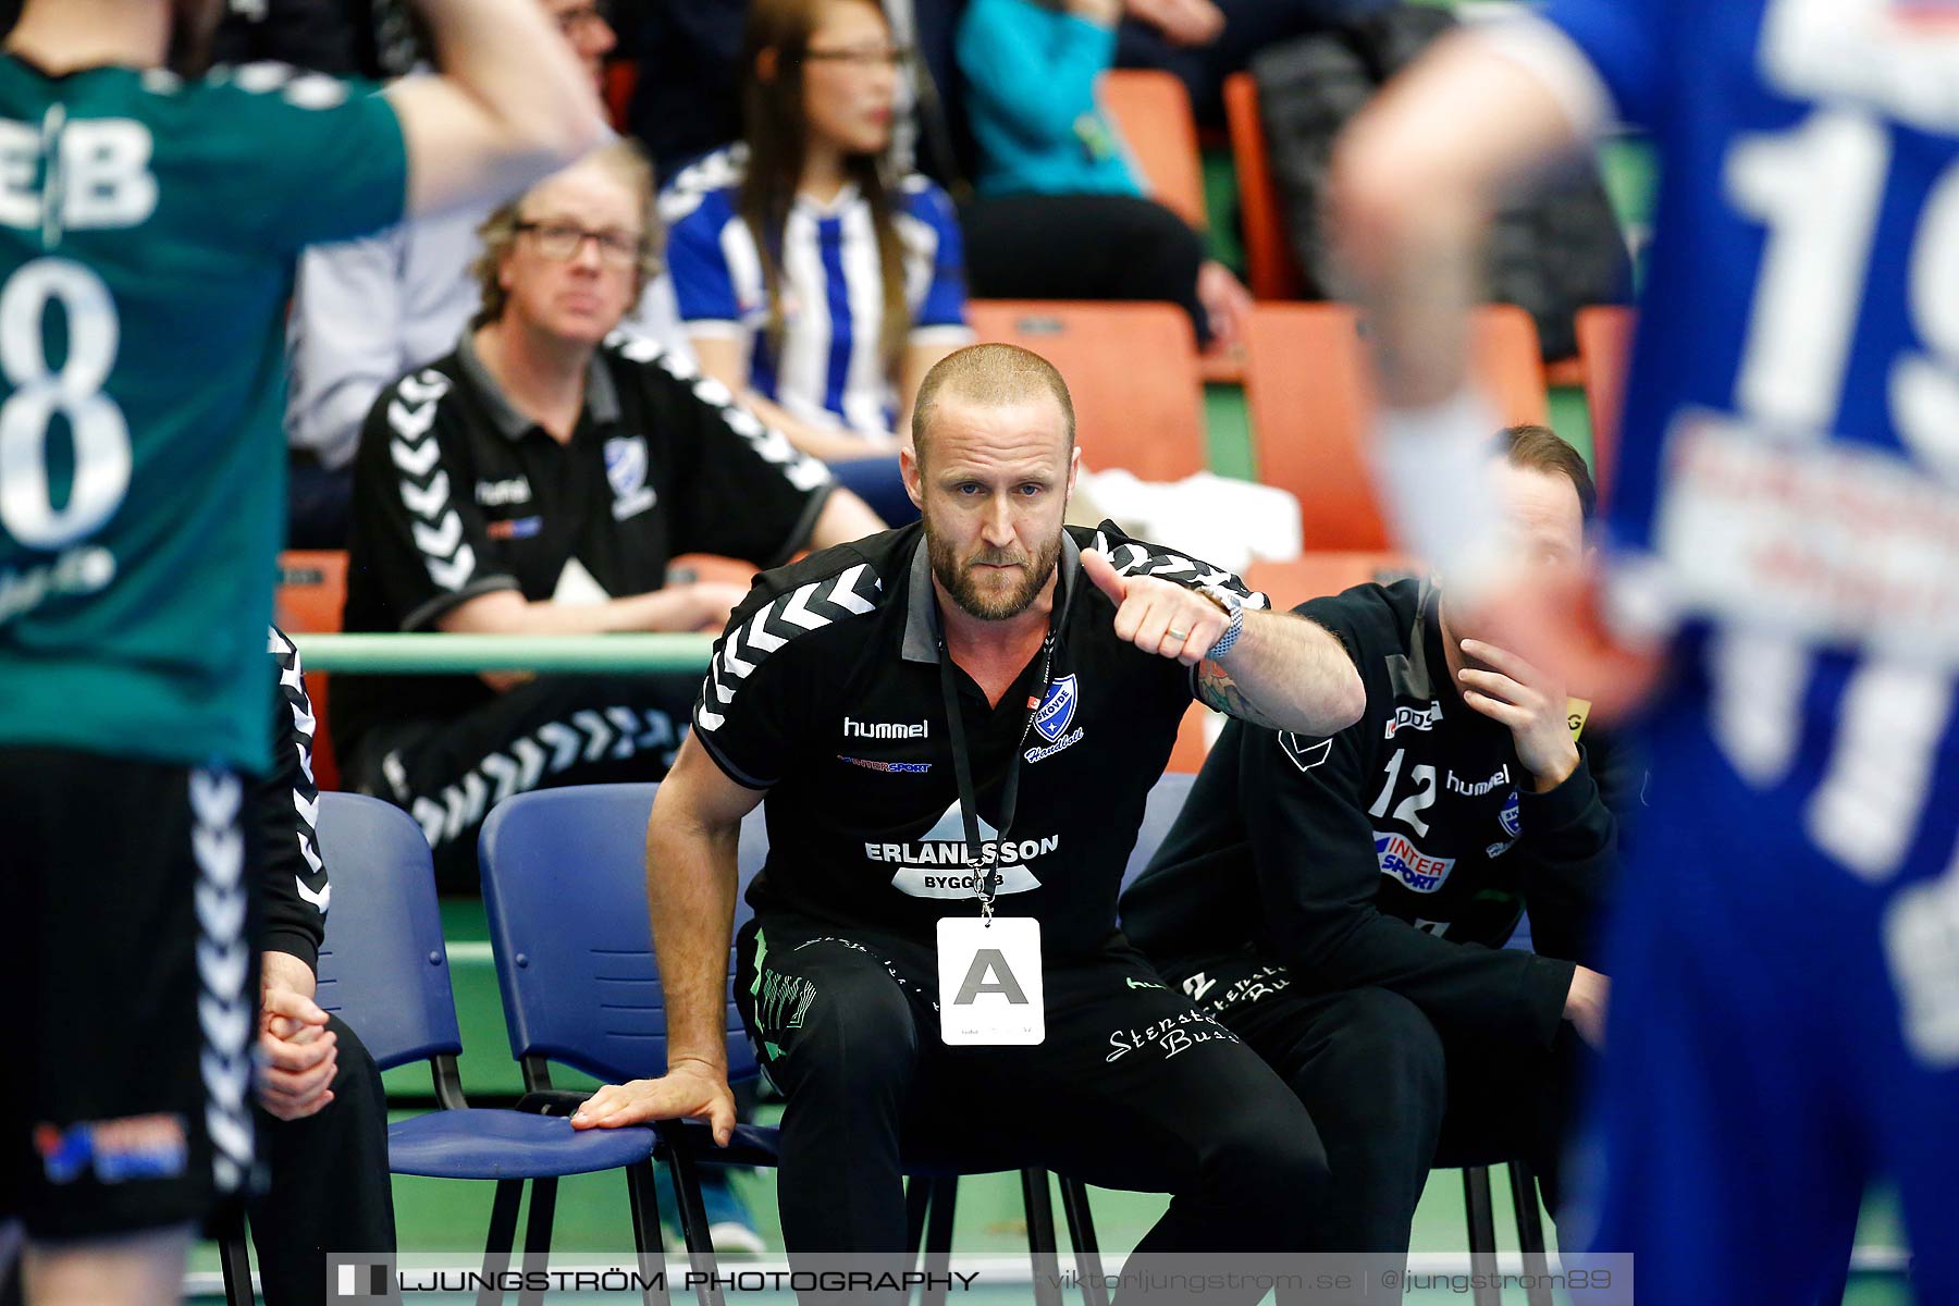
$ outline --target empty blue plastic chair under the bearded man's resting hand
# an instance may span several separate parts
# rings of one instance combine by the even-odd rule
[[[319,795],[317,828],[319,854],[333,879],[317,1003],[360,1032],[382,1069],[427,1061],[435,1077],[439,1110],[388,1126],[388,1169],[496,1181],[486,1271],[509,1265],[525,1179],[554,1183],[562,1175],[625,1169],[641,1271],[650,1281],[648,1271],[658,1267],[648,1263],[646,1251],[660,1247],[652,1130],[576,1134],[550,1116],[472,1108],[456,1073],[462,1034],[435,901],[435,867],[421,828],[402,809],[355,793]],[[664,1286],[646,1290],[646,1300],[664,1302]]]

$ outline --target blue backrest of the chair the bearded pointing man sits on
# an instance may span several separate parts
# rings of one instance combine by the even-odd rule
[[[484,907],[511,1055],[609,1083],[666,1073],[666,991],[646,920],[654,791],[541,789],[500,803],[484,822]],[[733,1001],[727,1030],[729,1075],[752,1075]]]

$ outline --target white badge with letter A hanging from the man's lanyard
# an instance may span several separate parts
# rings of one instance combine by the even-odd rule
[[[1046,1040],[1040,922],[1030,916],[940,916],[938,1032],[946,1046]]]

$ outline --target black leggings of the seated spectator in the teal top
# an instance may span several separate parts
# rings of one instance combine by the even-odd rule
[[[1203,239],[1140,196],[995,196],[960,210],[966,280],[985,300],[1166,300],[1211,319],[1197,302]]]

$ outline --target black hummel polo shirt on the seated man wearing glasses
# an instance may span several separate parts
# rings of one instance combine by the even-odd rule
[[[674,554],[776,566],[831,491],[727,388],[648,341],[592,358],[568,444],[519,413],[464,335],[380,394],[355,456],[347,630],[435,630],[496,589],[596,603],[666,583]],[[333,740],[378,723],[449,721],[488,701],[476,676],[341,676]]]

